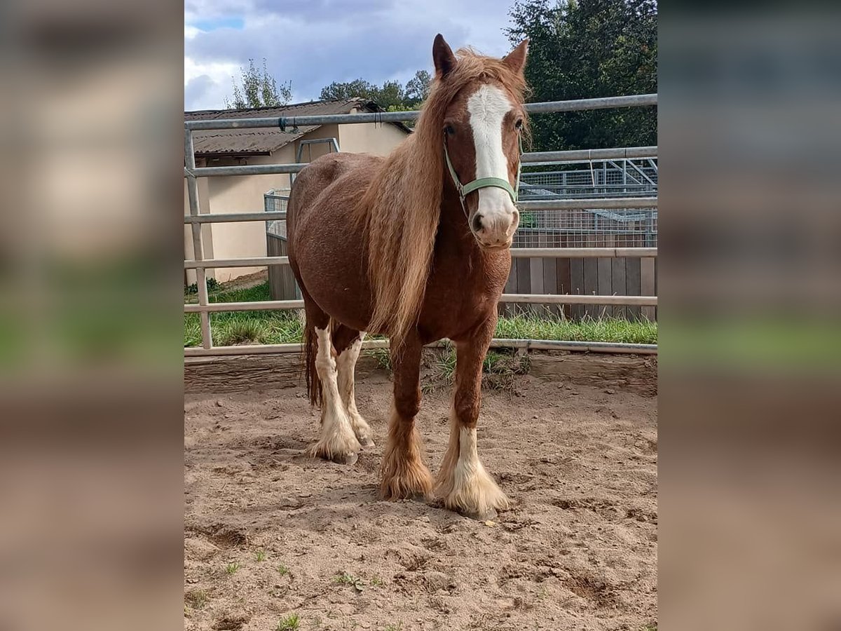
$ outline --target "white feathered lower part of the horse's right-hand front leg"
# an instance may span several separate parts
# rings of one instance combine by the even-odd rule
[[[508,498],[479,460],[476,428],[458,427],[457,430],[455,411],[451,412],[451,422],[450,445],[438,480],[438,494],[447,508],[480,519],[493,517],[496,509],[508,508]]]

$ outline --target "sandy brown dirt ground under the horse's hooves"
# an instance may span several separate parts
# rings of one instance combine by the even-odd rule
[[[388,377],[357,402],[377,447],[346,467],[303,455],[302,387],[186,397],[186,629],[656,628],[655,397],[529,375],[485,391],[479,454],[514,502],[493,522],[378,501]],[[449,405],[426,393],[419,417],[433,475]]]

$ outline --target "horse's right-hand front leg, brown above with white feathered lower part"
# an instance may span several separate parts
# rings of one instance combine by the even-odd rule
[[[476,450],[482,404],[482,362],[496,326],[491,315],[473,336],[456,343],[456,390],[450,412],[450,443],[436,480],[436,496],[447,508],[478,519],[508,508],[505,493],[484,470]]]

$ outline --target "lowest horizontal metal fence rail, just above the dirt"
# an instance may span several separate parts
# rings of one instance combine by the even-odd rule
[[[433,342],[427,347],[445,347],[447,342]],[[388,348],[388,340],[365,340],[362,348]],[[492,348],[523,348],[540,351],[578,351],[579,353],[632,353],[656,355],[657,344],[632,344],[625,342],[572,342],[566,340],[521,340],[494,338]],[[217,346],[213,348],[185,347],[185,357],[208,357],[213,355],[267,355],[274,353],[301,353],[303,344],[242,344],[241,346]]]

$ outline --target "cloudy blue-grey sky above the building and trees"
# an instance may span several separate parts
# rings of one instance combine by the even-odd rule
[[[293,103],[331,82],[362,77],[405,83],[432,70],[437,33],[456,50],[511,49],[504,29],[513,0],[186,0],[184,109],[223,109],[240,68],[253,58]]]

